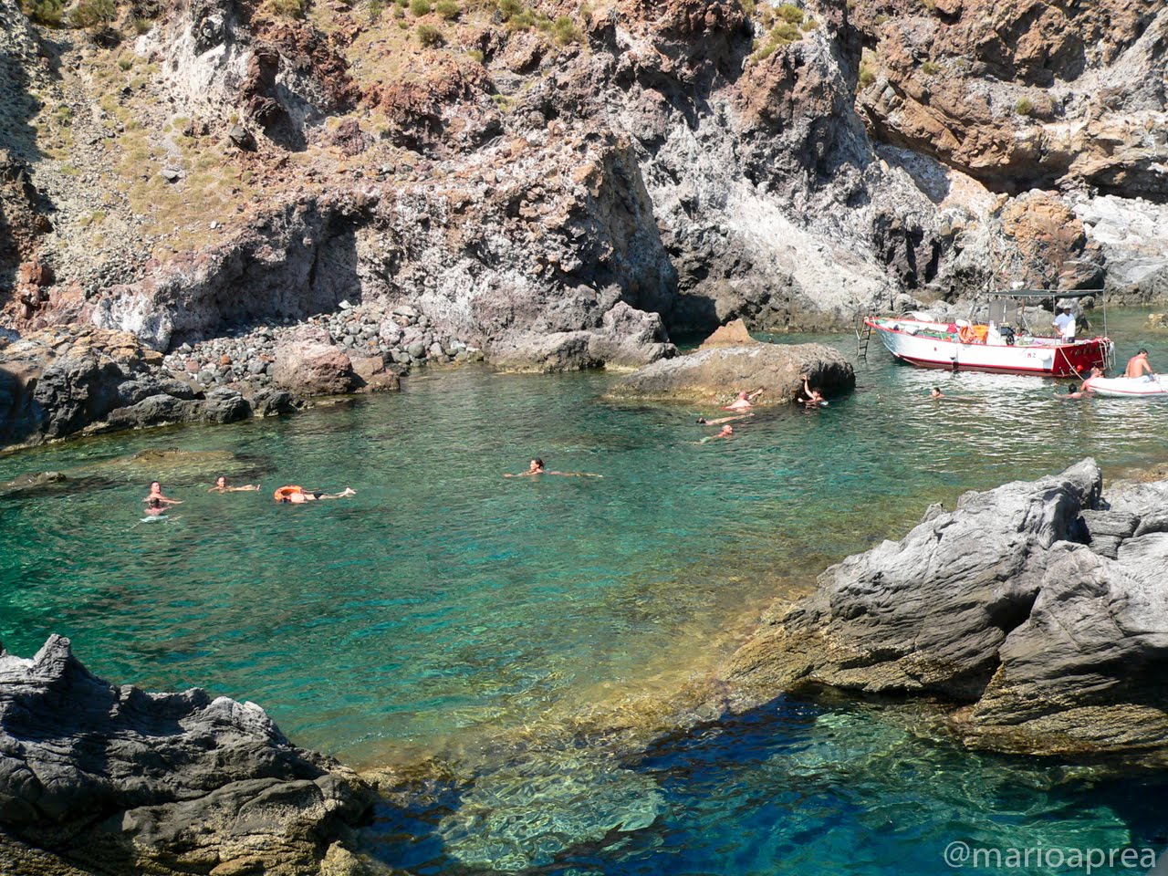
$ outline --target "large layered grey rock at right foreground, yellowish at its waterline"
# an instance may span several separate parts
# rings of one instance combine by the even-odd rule
[[[964,703],[969,745],[1168,763],[1168,481],[1086,459],[967,493],[825,571],[732,658],[732,698],[829,686]]]

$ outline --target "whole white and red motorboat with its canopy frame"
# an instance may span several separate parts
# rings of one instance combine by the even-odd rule
[[[1106,369],[1114,345],[1104,335],[1066,340],[1034,334],[1017,301],[1083,298],[1086,292],[1027,290],[990,294],[988,319],[932,322],[906,317],[868,317],[867,332],[880,335],[888,352],[903,362],[952,371],[999,371],[1044,377],[1075,377],[1098,366]],[[1044,313],[1044,312],[1041,312]],[[995,321],[996,319],[996,321]],[[1017,326],[1017,328],[1015,328]],[[1073,335],[1073,321],[1069,334]]]

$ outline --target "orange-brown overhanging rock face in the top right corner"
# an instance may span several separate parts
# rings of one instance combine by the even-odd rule
[[[892,15],[868,8],[857,16],[872,43],[857,110],[880,139],[936,155],[995,190],[1062,181],[1168,194],[1164,147],[1148,137],[1164,123],[1161,4],[882,7]],[[1112,86],[1124,81],[1134,88]]]

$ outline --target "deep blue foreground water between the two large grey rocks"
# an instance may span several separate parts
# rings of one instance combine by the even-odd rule
[[[412,795],[390,794],[380,807],[367,851],[425,875],[891,876],[945,872],[954,843],[1030,849],[1036,865],[1009,870],[1026,874],[1063,871],[1040,857],[1052,849],[1131,848],[1146,861],[1168,846],[1152,805],[1168,781],[972,753],[946,737],[940,714],[784,696],[640,757],[569,749],[517,757],[465,784],[450,774],[408,783]]]

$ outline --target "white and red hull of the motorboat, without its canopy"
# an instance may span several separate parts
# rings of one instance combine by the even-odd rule
[[[877,318],[864,322],[880,335],[884,347],[896,359],[920,368],[951,371],[1078,376],[1092,367],[1105,367],[1112,349],[1106,338],[1072,343],[1064,343],[1057,338],[1024,339],[1014,345],[965,343],[953,340],[945,324],[940,322]]]

